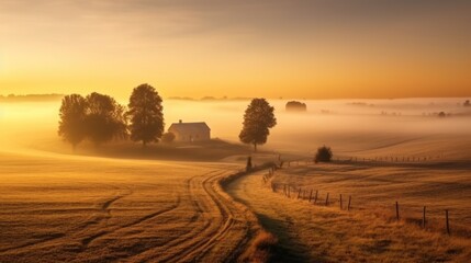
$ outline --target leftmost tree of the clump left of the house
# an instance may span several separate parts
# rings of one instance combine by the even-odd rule
[[[87,101],[79,94],[66,95],[59,110],[59,129],[58,134],[72,145],[74,150],[87,136],[86,117]]]

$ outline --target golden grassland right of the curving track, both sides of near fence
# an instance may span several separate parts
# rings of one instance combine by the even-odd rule
[[[235,181],[227,191],[279,238],[273,256],[281,262],[469,262],[471,163],[464,161],[469,148],[463,147],[469,139],[428,137],[385,145],[371,146],[370,151],[345,151],[354,161],[314,164],[312,160],[292,160],[288,167],[287,160],[267,182],[265,171]],[[426,161],[374,161],[378,156],[410,152],[412,148],[416,157],[455,151]],[[290,187],[290,197],[284,187]],[[349,196],[352,203],[347,211]],[[395,202],[400,204],[400,221],[395,219]],[[450,215],[450,237],[445,209]]]

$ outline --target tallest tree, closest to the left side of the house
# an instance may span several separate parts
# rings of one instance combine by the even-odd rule
[[[164,113],[161,98],[149,84],[141,84],[134,89],[130,99],[131,139],[142,141],[143,147],[148,142],[157,142],[164,134]]]

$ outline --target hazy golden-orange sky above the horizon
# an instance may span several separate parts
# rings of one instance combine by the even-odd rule
[[[0,0],[0,94],[471,95],[469,0]]]

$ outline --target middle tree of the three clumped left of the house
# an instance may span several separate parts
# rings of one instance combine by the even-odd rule
[[[113,138],[127,135],[124,106],[109,96],[93,92],[87,96],[87,137],[98,147]]]

